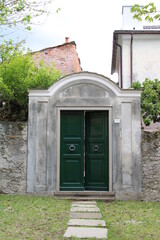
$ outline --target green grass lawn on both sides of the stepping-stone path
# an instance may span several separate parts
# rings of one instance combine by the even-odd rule
[[[110,240],[160,239],[160,203],[98,202]],[[63,239],[71,201],[0,195],[0,239]],[[74,238],[75,239],[75,238]]]

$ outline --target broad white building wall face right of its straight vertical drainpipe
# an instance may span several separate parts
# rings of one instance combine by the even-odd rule
[[[133,82],[160,79],[160,35],[137,35],[133,40]]]

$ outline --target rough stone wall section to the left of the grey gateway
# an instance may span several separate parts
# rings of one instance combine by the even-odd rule
[[[27,123],[0,122],[0,193],[26,192]]]

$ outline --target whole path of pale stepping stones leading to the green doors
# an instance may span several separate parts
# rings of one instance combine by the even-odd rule
[[[64,238],[107,239],[108,230],[95,201],[73,202]]]

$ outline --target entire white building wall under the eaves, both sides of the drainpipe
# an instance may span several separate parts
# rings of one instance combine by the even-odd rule
[[[131,35],[119,37],[122,46],[123,88],[131,87]],[[160,79],[160,34],[133,34],[132,81]],[[119,73],[120,75],[120,73]]]

